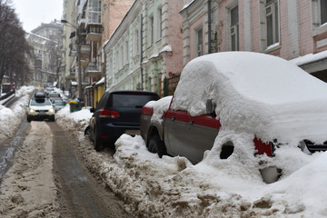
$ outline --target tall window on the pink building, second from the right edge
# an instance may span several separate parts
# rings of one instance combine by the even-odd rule
[[[265,20],[267,46],[279,42],[278,0],[266,0]]]

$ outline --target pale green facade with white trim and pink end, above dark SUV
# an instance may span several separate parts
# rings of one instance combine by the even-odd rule
[[[163,95],[183,68],[182,1],[136,0],[104,45],[106,87]]]

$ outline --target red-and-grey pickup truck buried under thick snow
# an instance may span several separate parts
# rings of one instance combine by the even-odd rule
[[[221,159],[235,150],[240,158],[273,156],[283,144],[324,151],[326,93],[327,84],[280,57],[207,54],[186,64],[170,103],[144,106],[141,135],[150,152],[192,163],[213,144]]]

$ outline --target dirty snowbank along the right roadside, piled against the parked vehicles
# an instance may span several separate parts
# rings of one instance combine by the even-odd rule
[[[147,105],[164,108],[168,98],[161,104]],[[307,155],[294,147],[282,147],[275,162],[283,170],[282,178],[277,183],[266,184],[258,165],[243,158],[247,154],[242,149],[227,160],[219,160],[212,151],[202,163],[193,165],[178,156],[160,159],[147,151],[141,136],[124,134],[115,143],[114,156],[108,150],[96,153],[94,144],[84,136],[85,120],[91,115],[87,109],[69,114],[66,108],[57,121],[78,138],[78,150],[84,155],[88,169],[100,176],[124,200],[125,209],[135,216],[327,216],[323,204],[327,194],[322,192],[327,182],[325,153]],[[222,136],[238,137],[240,146],[250,137],[228,131]]]

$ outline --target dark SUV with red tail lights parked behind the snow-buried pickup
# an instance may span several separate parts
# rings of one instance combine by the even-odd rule
[[[85,134],[94,141],[96,151],[104,143],[113,145],[122,134],[140,134],[140,117],[144,104],[159,99],[158,94],[142,91],[110,91],[100,99]]]

